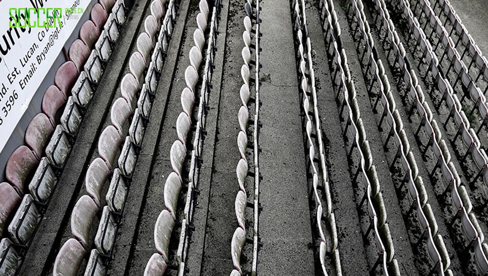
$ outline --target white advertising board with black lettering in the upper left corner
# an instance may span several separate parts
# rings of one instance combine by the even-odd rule
[[[0,0],[0,151],[90,2]]]

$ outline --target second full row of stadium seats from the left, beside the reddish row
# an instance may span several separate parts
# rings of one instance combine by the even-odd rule
[[[167,48],[168,36],[176,19],[175,2],[153,0],[151,14],[144,21],[144,32],[137,40],[137,51],[129,59],[129,70],[121,81],[122,97],[117,98],[111,108],[111,125],[101,133],[98,143],[99,156],[89,166],[85,178],[88,195],[78,199],[71,213],[71,233],[74,238],[68,239],[59,250],[54,262],[54,275],[76,275],[87,250],[92,248],[90,230],[95,217],[99,215],[100,224],[95,236],[96,249],[91,250],[86,275],[105,275],[110,259],[113,257],[113,245],[123,215],[126,196],[132,173],[137,162],[149,120],[151,102],[149,93],[155,91],[157,76],[164,63],[163,48]],[[168,12],[164,13],[164,8]],[[160,32],[158,33],[158,31]],[[147,40],[148,39],[148,40]],[[162,45],[166,45],[166,47]],[[141,91],[142,89],[142,91]],[[135,98],[139,95],[136,105]],[[139,110],[145,110],[145,115]],[[132,120],[129,121],[129,117]],[[130,122],[130,126],[128,126]],[[124,142],[120,156],[119,149]],[[111,178],[106,194],[107,205],[101,202],[102,190],[107,179]],[[104,206],[105,205],[105,206]]]

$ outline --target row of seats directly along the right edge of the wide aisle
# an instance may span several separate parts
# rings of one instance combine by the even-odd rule
[[[319,248],[320,264],[324,275],[328,275],[329,273],[327,270],[332,270],[332,268],[336,271],[337,275],[342,275],[336,219],[332,208],[329,177],[327,174],[326,157],[324,155],[322,141],[322,129],[320,126],[319,111],[317,107],[317,92],[312,62],[312,47],[310,37],[308,36],[305,1],[297,0],[294,2],[294,4],[292,4],[292,7],[294,10],[293,20],[295,37],[296,41],[298,42],[298,70],[301,74],[301,81],[299,81],[299,83],[301,83],[302,107],[305,114],[303,123],[307,134],[307,146],[309,153],[308,159],[313,182],[313,198],[315,199],[317,205],[316,223],[321,238]],[[310,98],[312,99],[312,110],[309,108]],[[312,121],[314,122],[313,127]],[[318,159],[315,157],[315,153],[317,153],[319,157]],[[318,162],[319,166],[315,166],[314,162]],[[322,201],[324,202],[323,204]],[[325,222],[325,227],[323,227],[322,222]],[[326,254],[333,256],[333,261],[330,265],[328,264]],[[329,267],[331,268],[328,269]]]

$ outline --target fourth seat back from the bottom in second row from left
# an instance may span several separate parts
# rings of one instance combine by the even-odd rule
[[[98,141],[98,154],[107,163],[109,168],[112,168],[115,161],[115,156],[122,143],[122,137],[113,125],[105,127],[100,134]]]

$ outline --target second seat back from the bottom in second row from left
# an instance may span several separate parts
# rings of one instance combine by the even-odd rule
[[[98,211],[97,204],[88,195],[80,197],[73,207],[73,212],[71,213],[71,233],[85,248],[90,248],[90,229]]]

